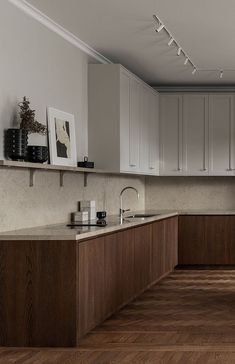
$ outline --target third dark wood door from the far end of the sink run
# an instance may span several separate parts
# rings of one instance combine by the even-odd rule
[[[151,225],[144,225],[134,229],[135,294],[146,288],[151,281],[151,239]]]

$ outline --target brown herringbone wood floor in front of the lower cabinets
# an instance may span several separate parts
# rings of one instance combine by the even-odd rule
[[[78,349],[0,349],[1,364],[235,363],[235,270],[177,270]]]

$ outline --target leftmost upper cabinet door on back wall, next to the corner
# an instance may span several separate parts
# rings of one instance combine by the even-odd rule
[[[182,95],[160,96],[160,175],[182,175]]]

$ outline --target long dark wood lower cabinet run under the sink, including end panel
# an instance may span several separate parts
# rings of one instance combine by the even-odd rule
[[[177,264],[177,217],[76,241],[0,242],[0,346],[72,347]]]

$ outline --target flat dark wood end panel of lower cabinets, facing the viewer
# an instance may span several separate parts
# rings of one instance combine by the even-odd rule
[[[0,345],[76,345],[72,241],[0,242]]]

